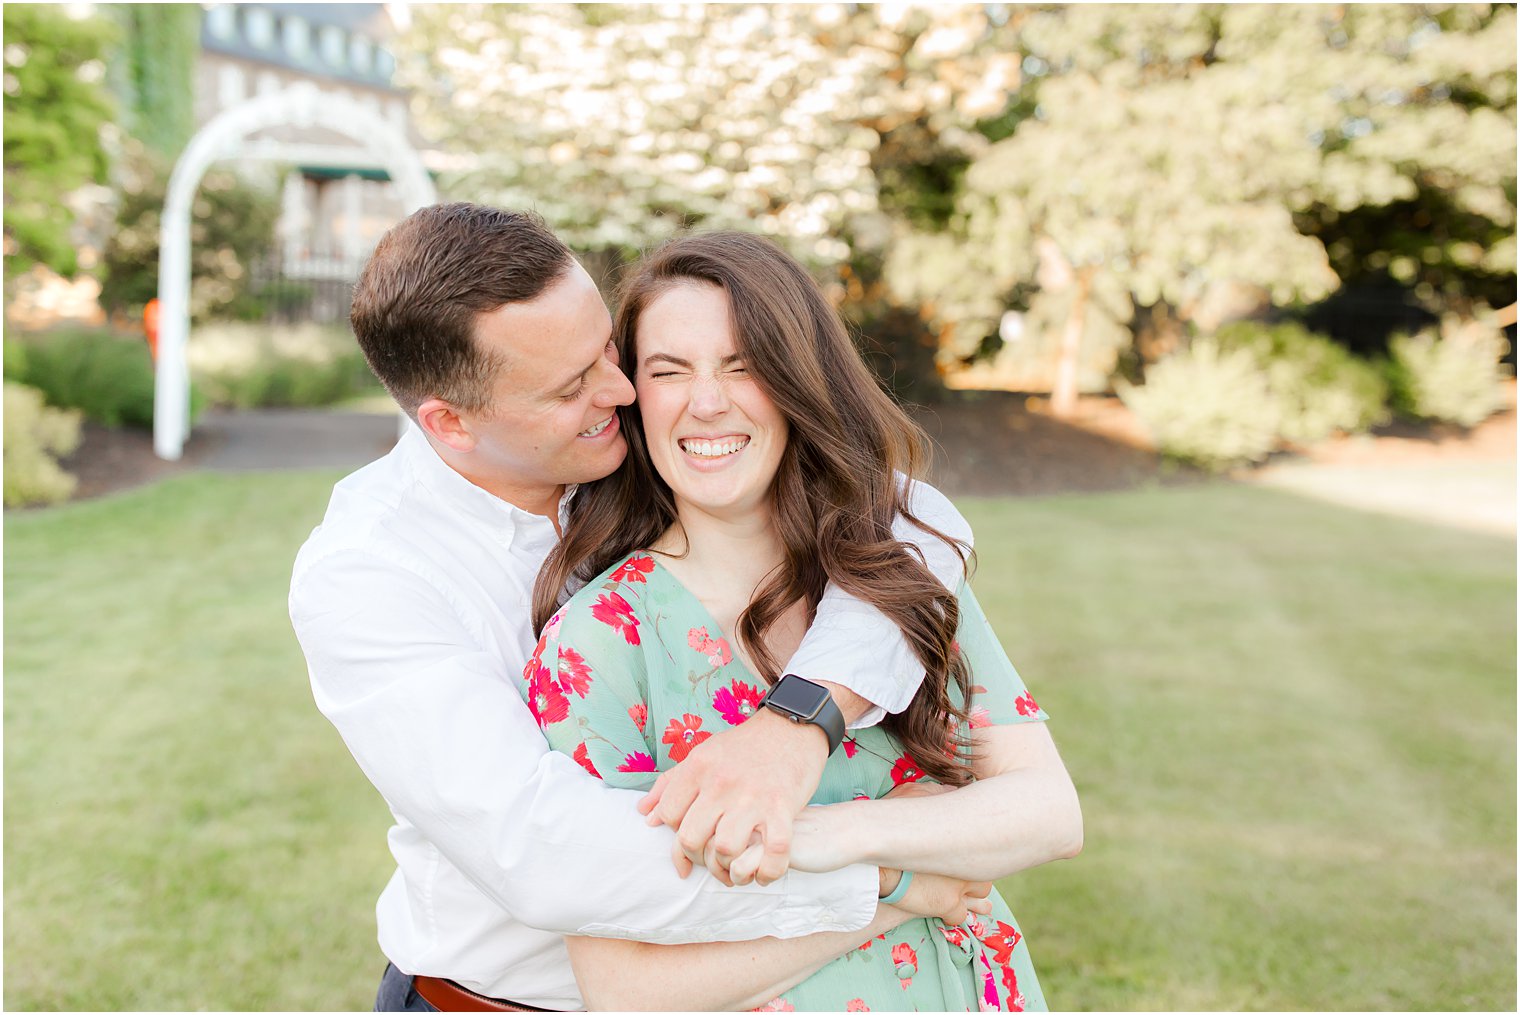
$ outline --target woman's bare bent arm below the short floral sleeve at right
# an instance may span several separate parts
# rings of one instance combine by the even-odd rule
[[[977,781],[932,796],[809,807],[793,827],[792,868],[865,862],[996,881],[1082,849],[1082,808],[1043,722],[973,731]],[[955,828],[955,848],[945,848]]]

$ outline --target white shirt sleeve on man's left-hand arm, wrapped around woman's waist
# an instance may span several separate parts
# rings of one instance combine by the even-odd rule
[[[339,550],[298,564],[290,618],[318,708],[392,811],[515,919],[658,944],[856,930],[876,869],[724,887],[682,880],[672,833],[638,793],[550,752],[514,679],[445,587],[406,562]],[[588,877],[597,887],[588,887]]]

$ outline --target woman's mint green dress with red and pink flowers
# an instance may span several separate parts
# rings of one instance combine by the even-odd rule
[[[970,726],[1044,720],[965,583],[959,599],[958,643],[974,682]],[[765,684],[734,656],[702,603],[652,556],[635,553],[555,614],[523,670],[521,693],[556,751],[613,786],[649,789],[696,745],[752,716]],[[876,799],[920,778],[892,737],[856,729],[824,767],[813,802]],[[955,848],[953,837],[945,848]],[[872,1009],[1046,1004],[1023,933],[994,890],[990,918],[961,927],[912,919],[758,1010]]]

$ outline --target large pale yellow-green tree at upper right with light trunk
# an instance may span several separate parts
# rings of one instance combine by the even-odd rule
[[[1032,115],[967,169],[944,229],[903,228],[888,278],[933,301],[942,356],[1011,293],[1067,304],[1053,409],[1094,318],[1166,304],[1199,321],[1230,287],[1283,304],[1339,278],[1295,220],[1441,191],[1514,270],[1512,8],[1081,6],[1023,12]],[[1474,102],[1482,96],[1482,102]],[[1093,299],[1119,292],[1105,313]]]

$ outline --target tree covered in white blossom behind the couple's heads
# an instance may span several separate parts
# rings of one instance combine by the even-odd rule
[[[585,249],[701,225],[830,266],[882,232],[883,135],[1006,103],[1017,58],[988,38],[970,5],[439,5],[400,76],[461,152],[453,193],[537,207]]]

